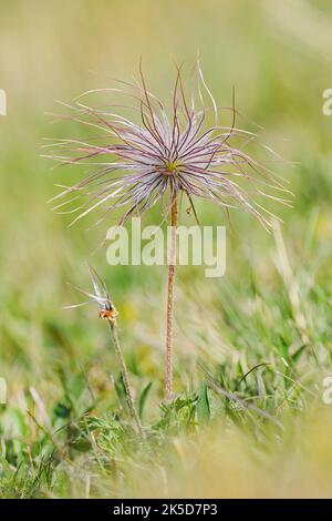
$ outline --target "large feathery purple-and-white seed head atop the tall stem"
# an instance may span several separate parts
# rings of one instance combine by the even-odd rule
[[[123,88],[90,92],[123,94],[134,101],[133,105],[122,103],[102,110],[76,101],[71,106],[75,115],[68,119],[103,133],[102,137],[89,142],[66,139],[55,143],[60,152],[51,157],[64,164],[84,163],[92,166],[89,176],[73,186],[65,186],[54,197],[71,196],[56,204],[55,208],[64,213],[77,213],[72,224],[100,210],[102,215],[96,222],[98,224],[118,208],[123,210],[122,224],[167,196],[168,203],[163,207],[169,212],[174,193],[184,193],[191,206],[195,197],[217,203],[226,211],[240,206],[264,226],[270,225],[269,212],[255,196],[262,195],[287,204],[287,200],[266,194],[261,186],[268,185],[279,192],[289,191],[283,188],[266,163],[249,155],[246,147],[256,142],[272,155],[273,161],[276,154],[260,145],[255,134],[236,127],[235,106],[230,109],[231,125],[218,123],[220,112],[225,109],[217,106],[199,64],[196,72],[196,89],[188,96],[183,73],[177,68],[169,109],[147,90],[141,67],[139,83],[121,82]],[[113,112],[113,106],[121,108],[123,114]],[[136,112],[139,121],[125,116],[127,110]],[[214,123],[209,123],[210,115]],[[235,141],[240,143],[236,146]],[[248,185],[247,190],[243,184]],[[253,188],[253,193],[248,187],[250,191]],[[73,207],[64,210],[66,205]]]

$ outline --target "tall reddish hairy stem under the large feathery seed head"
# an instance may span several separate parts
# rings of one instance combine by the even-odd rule
[[[167,290],[167,321],[166,321],[166,398],[173,395],[173,365],[172,365],[172,336],[173,336],[173,307],[174,307],[174,283],[176,264],[176,225],[177,225],[177,194],[172,196],[170,208],[172,242],[168,267]]]

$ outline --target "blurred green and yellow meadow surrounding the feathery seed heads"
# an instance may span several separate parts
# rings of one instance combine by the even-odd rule
[[[12,0],[0,12],[1,496],[331,496],[332,405],[322,382],[332,347],[332,118],[322,93],[332,88],[332,6]],[[178,269],[178,398],[167,408],[165,269],[108,266],[97,249],[108,223],[69,228],[70,216],[51,211],[54,184],[80,174],[52,168],[42,145],[84,134],[54,123],[56,100],[138,78],[139,57],[149,89],[166,99],[174,62],[190,68],[198,53],[218,104],[231,105],[235,86],[246,116],[238,124],[260,125],[262,141],[288,160],[278,172],[294,196],[291,208],[269,206],[283,221],[276,234],[237,211],[230,227],[198,203],[204,224],[227,225],[227,270],[207,279]],[[158,224],[159,210],[146,224]],[[92,306],[62,309],[81,298],[68,282],[90,289],[86,260],[120,311],[145,448],[133,438],[107,328]],[[206,391],[201,366],[242,401]]]

